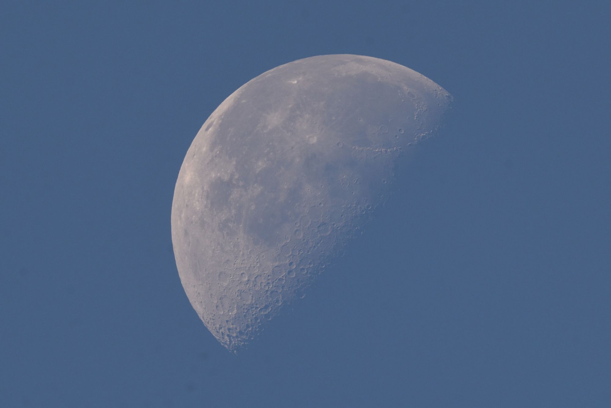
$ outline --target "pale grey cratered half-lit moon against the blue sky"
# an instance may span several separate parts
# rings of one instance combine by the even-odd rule
[[[244,348],[330,269],[451,102],[403,65],[338,54],[280,65],[221,103],[172,203],[181,282],[221,344]]]

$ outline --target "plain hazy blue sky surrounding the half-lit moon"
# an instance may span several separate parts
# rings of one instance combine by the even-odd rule
[[[611,7],[458,3],[2,1],[0,406],[611,406]],[[230,354],[178,279],[178,170],[244,82],[336,53],[454,122]]]

